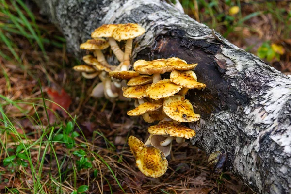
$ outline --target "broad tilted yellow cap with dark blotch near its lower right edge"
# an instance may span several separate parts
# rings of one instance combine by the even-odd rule
[[[189,100],[180,95],[174,95],[163,103],[163,110],[168,117],[178,122],[195,122],[200,114],[195,114]]]

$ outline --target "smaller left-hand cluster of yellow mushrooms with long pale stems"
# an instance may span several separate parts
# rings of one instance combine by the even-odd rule
[[[126,100],[122,96],[121,90],[121,87],[126,86],[126,83],[121,82],[121,80],[139,75],[135,71],[128,71],[132,40],[145,32],[146,30],[138,24],[105,24],[91,33],[93,39],[87,40],[80,45],[81,49],[90,50],[94,56],[84,56],[83,61],[86,65],[77,65],[73,69],[81,72],[82,76],[87,79],[99,76],[102,81],[94,87],[91,93],[92,97],[105,96],[109,100]],[[108,41],[104,38],[108,38]],[[116,40],[126,40],[124,52],[119,48]],[[109,65],[102,53],[102,50],[107,49],[109,46],[120,62],[118,66]]]

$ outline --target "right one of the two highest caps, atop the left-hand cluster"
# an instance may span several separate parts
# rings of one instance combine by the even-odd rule
[[[142,26],[138,24],[119,24],[118,28],[113,30],[112,37],[117,40],[128,40],[138,37],[146,32]]]

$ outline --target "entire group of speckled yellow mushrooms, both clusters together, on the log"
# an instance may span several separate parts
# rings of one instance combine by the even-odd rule
[[[193,69],[197,64],[187,64],[177,57],[153,61],[137,60],[131,67],[130,56],[132,39],[146,30],[138,24],[107,24],[92,32],[93,39],[82,43],[80,48],[93,52],[83,61],[87,65],[77,65],[74,70],[82,72],[83,77],[93,79],[99,76],[102,83],[97,84],[91,96],[107,99],[135,99],[135,109],[127,112],[129,116],[143,116],[152,123],[146,143],[134,136],[129,137],[129,147],[136,158],[139,170],[150,177],[162,176],[167,168],[166,157],[170,155],[172,141],[182,143],[195,136],[195,131],[181,122],[196,122],[200,119],[185,95],[189,89],[204,89],[205,84],[197,82]],[[108,41],[101,38],[108,38]],[[126,40],[124,52],[117,41]],[[111,47],[119,60],[118,66],[109,65],[102,49]],[[168,79],[161,80],[161,74],[171,72]]]

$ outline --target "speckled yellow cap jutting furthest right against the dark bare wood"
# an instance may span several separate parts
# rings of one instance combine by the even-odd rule
[[[206,85],[204,83],[197,82],[197,77],[194,71],[172,71],[170,75],[170,81],[176,85],[183,86],[188,89],[202,89]]]

